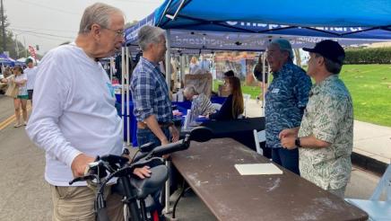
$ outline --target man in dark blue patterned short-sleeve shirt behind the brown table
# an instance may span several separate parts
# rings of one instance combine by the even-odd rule
[[[266,147],[272,148],[275,163],[300,174],[299,151],[282,148],[278,136],[282,129],[300,126],[311,80],[300,66],[293,64],[288,40],[272,40],[266,53],[274,77],[265,96]]]

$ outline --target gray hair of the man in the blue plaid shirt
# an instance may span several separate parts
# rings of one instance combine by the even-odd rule
[[[159,27],[145,25],[138,31],[138,46],[140,49],[147,49],[149,44],[161,42],[161,36],[164,36],[164,30]]]

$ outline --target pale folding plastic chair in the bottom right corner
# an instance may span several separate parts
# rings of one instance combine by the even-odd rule
[[[380,196],[386,191],[386,201],[380,201]],[[369,215],[369,220],[391,220],[391,167],[387,166],[378,186],[369,199],[345,199],[352,205],[361,208]]]

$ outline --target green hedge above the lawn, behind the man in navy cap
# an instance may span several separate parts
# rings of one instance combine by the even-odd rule
[[[391,64],[391,48],[346,49],[345,64]]]

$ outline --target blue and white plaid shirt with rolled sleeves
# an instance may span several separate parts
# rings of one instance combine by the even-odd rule
[[[169,88],[158,65],[140,57],[132,74],[130,90],[137,121],[143,121],[151,115],[155,115],[158,122],[172,121]]]

